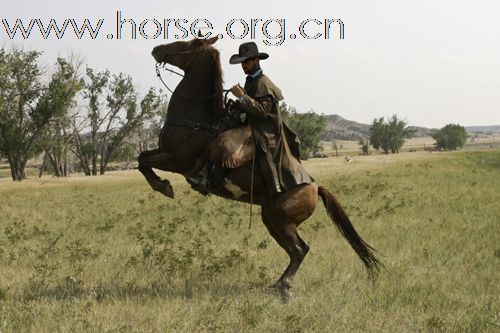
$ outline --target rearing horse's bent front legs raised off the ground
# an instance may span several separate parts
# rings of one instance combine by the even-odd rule
[[[152,169],[171,171],[169,160],[169,154],[162,153],[159,149],[142,152],[138,158],[139,171],[146,177],[151,188],[173,199],[174,190],[170,185],[170,181],[167,179],[162,180]]]

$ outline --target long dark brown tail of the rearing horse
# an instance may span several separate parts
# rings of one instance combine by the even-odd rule
[[[326,188],[319,186],[318,194],[323,200],[328,216],[330,216],[342,236],[347,239],[353,250],[365,265],[368,271],[368,277],[372,280],[376,279],[378,273],[380,272],[380,266],[382,266],[376,256],[377,251],[368,245],[368,243],[366,243],[356,232],[354,226],[349,220],[349,217],[332,193],[330,193]]]

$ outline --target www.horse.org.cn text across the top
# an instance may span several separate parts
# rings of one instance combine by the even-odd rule
[[[233,18],[224,25],[216,26],[209,19],[124,17],[116,11],[112,30],[104,32],[108,20],[65,18],[57,20],[40,18],[2,19],[3,32],[11,39],[43,38],[137,40],[163,39],[184,40],[188,38],[261,40],[268,46],[282,45],[286,40],[330,40],[344,39],[344,22],[332,18],[306,18],[290,24],[285,18]],[[1,30],[0,30],[1,31]],[[112,32],[109,32],[112,31]],[[1,34],[1,33],[0,33]]]

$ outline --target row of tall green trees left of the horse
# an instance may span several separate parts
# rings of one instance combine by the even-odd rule
[[[42,169],[56,176],[67,176],[73,159],[97,175],[126,144],[148,148],[166,113],[161,91],[140,93],[129,75],[96,71],[75,57],[50,67],[40,57],[0,49],[0,158],[13,180],[25,179],[27,162],[42,155]]]

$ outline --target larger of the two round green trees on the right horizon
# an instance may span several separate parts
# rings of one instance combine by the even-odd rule
[[[413,130],[406,126],[406,122],[393,115],[384,121],[384,117],[376,118],[370,126],[370,142],[375,149],[382,149],[385,154],[389,151],[399,153],[405,140],[413,134]]]

